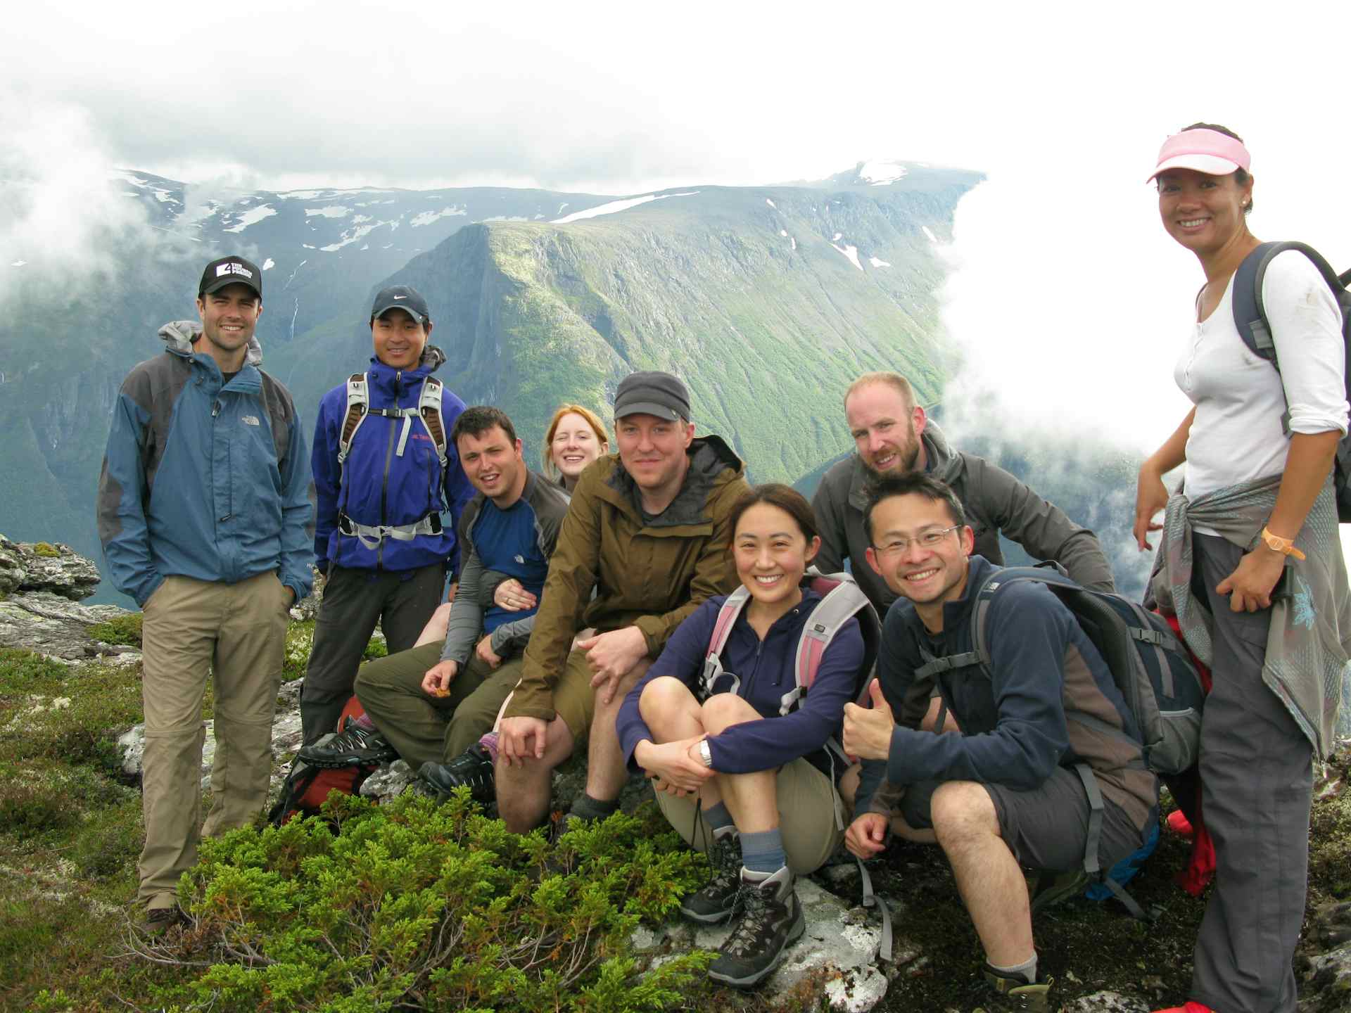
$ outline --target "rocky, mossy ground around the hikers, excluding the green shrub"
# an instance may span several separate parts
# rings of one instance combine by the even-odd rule
[[[62,544],[0,538],[0,854],[8,855],[0,859],[0,871],[9,874],[0,886],[0,909],[11,923],[0,928],[0,1008],[101,1008],[34,1005],[43,987],[70,987],[61,981],[62,974],[73,972],[69,967],[53,964],[50,981],[42,974],[45,962],[65,959],[62,947],[80,945],[72,939],[85,939],[82,945],[88,947],[77,960],[80,974],[91,967],[101,968],[97,974],[109,981],[155,974],[153,967],[139,966],[123,941],[139,848],[139,617],[116,606],[81,605],[96,579],[93,563]],[[277,783],[300,740],[299,675],[312,615],[311,600],[293,612],[288,681],[273,737]],[[212,752],[209,731],[207,743],[204,778]],[[581,774],[576,764],[561,771],[555,798],[570,797]],[[373,775],[362,791],[389,798],[407,790],[411,781],[407,764],[394,762]],[[1351,1010],[1348,782],[1351,742],[1321,771],[1316,789],[1309,913],[1297,956],[1301,1013]],[[55,798],[47,800],[43,791]],[[626,804],[636,804],[643,793],[642,782],[631,783]],[[72,814],[70,809],[81,812]],[[1182,841],[1166,836],[1132,883],[1136,897],[1161,912],[1150,925],[1088,900],[1039,916],[1043,967],[1055,977],[1054,995],[1065,1010],[1148,1013],[1181,1001],[1202,910],[1200,901],[1171,882],[1185,858]],[[942,856],[935,850],[897,846],[870,870],[896,918],[892,962],[874,959],[880,918],[858,906],[857,867],[851,862],[828,866],[800,886],[807,936],[762,994],[748,999],[727,995],[725,1005],[759,1010],[817,1009],[823,1004],[848,1010],[1000,1009],[979,981],[979,950]],[[78,920],[88,937],[57,928],[39,952],[34,939],[41,936],[45,918],[59,920],[58,927]],[[721,932],[725,929],[693,932],[670,924],[657,932],[640,929],[632,944],[661,959],[693,945],[715,947]]]

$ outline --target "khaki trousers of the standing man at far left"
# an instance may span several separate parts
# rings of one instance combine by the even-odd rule
[[[246,827],[267,801],[272,717],[281,686],[290,592],[276,573],[239,583],[168,577],[142,624],[146,846],[138,900],[174,904],[178,877],[197,860],[201,816],[201,704],[215,692],[216,755],[201,833]]]

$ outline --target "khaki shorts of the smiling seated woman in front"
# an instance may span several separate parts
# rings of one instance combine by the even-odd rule
[[[794,875],[815,873],[844,840],[844,831],[835,824],[835,790],[831,779],[804,756],[778,769],[778,827],[784,851]],[[703,819],[696,820],[696,797],[677,798],[657,793],[662,816],[696,851],[708,851],[712,831]]]

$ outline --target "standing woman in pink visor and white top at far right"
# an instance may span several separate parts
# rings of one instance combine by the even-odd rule
[[[1342,309],[1315,259],[1248,231],[1250,169],[1236,134],[1197,123],[1150,176],[1165,231],[1205,274],[1173,374],[1193,408],[1140,467],[1135,509],[1142,550],[1162,532],[1151,590],[1213,677],[1200,773],[1215,891],[1190,1001],[1171,1013],[1296,1010],[1312,760],[1332,748],[1351,647],[1332,482],[1347,431]],[[1279,369],[1240,334],[1258,305],[1254,347]],[[1163,475],[1183,462],[1170,496]]]

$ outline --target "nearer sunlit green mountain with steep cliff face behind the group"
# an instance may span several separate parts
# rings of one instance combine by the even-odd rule
[[[848,446],[839,404],[859,373],[897,369],[938,396],[944,267],[924,230],[947,235],[978,178],[954,176],[932,190],[705,188],[570,224],[469,226],[388,281],[427,296],[440,375],[505,408],[532,458],[559,402],[607,415],[624,374],[666,369],[700,431],[753,477],[792,479]],[[367,347],[359,327],[316,328],[282,358],[357,369]],[[284,375],[301,401],[340,380]]]

